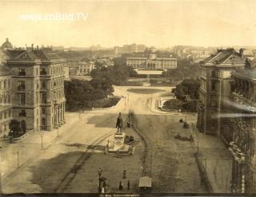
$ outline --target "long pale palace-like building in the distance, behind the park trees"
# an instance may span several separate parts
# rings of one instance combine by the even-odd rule
[[[175,57],[157,57],[150,54],[147,57],[126,57],[126,65],[134,69],[175,69],[177,68],[177,58]]]

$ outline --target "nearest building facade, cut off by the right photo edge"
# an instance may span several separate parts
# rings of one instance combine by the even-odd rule
[[[231,191],[256,193],[256,69],[240,69],[231,77]]]

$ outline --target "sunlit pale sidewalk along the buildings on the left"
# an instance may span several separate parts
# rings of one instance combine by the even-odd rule
[[[74,123],[79,120],[79,116],[66,112],[66,120],[68,124],[63,124],[61,128],[52,131],[34,132],[34,134],[17,143],[10,144],[9,142],[1,141],[0,164],[2,181],[14,173],[14,171],[17,171],[23,164],[26,164],[26,162],[29,162],[41,152],[50,148],[50,145],[54,144],[55,141],[61,139],[62,134],[68,132],[70,127],[73,127]]]

